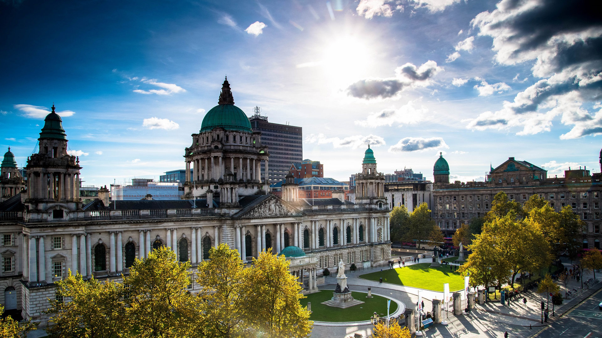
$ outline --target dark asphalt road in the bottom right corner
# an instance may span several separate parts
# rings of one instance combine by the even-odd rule
[[[532,338],[602,338],[602,311],[598,304],[602,301],[602,289],[580,302],[549,327],[539,331]]]

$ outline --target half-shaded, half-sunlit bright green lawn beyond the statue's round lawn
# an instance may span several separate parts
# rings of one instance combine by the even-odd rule
[[[450,272],[450,266],[442,265],[431,268],[430,263],[420,263],[396,269],[383,269],[382,272],[372,272],[359,277],[368,280],[382,281],[420,289],[443,292],[443,284],[450,284],[450,291],[464,289],[464,278],[456,271]],[[454,266],[458,268],[458,266]]]

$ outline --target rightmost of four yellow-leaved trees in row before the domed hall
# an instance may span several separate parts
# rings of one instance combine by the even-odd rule
[[[288,272],[284,255],[265,251],[244,270],[246,329],[257,337],[309,337],[312,321],[297,278]]]

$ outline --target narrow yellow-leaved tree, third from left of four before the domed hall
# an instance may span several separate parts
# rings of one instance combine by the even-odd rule
[[[211,337],[237,336],[243,325],[246,300],[241,297],[244,283],[243,261],[238,250],[227,244],[209,249],[209,260],[200,263],[197,283],[201,288],[196,301],[206,321],[205,334]]]

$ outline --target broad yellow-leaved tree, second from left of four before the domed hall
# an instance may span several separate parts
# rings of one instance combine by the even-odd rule
[[[176,262],[167,247],[135,260],[126,285],[126,331],[141,338],[203,336],[200,310],[187,292],[190,262]]]

